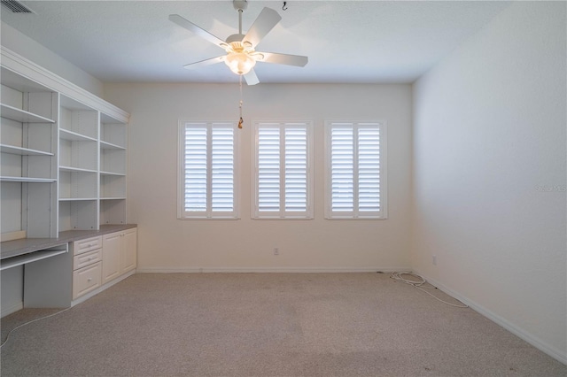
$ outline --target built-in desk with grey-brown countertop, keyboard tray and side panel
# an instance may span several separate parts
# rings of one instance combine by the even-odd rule
[[[72,304],[73,255],[71,242],[136,227],[103,225],[99,230],[69,230],[57,238],[26,238],[0,243],[0,270],[24,267],[25,308],[64,308]]]

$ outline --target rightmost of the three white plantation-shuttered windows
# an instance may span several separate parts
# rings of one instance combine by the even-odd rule
[[[327,219],[386,219],[386,127],[325,123]]]

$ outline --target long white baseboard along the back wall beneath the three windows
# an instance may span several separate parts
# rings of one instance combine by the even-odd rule
[[[393,273],[408,267],[145,267],[136,273]]]

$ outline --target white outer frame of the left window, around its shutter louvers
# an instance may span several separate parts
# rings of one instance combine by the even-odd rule
[[[207,127],[213,127],[215,124],[229,126],[234,130],[234,186],[233,186],[233,212],[215,212],[211,208],[207,208],[205,212],[185,212],[185,127],[187,124],[203,124]],[[212,130],[212,128],[211,128]],[[195,120],[195,119],[179,119],[177,132],[177,219],[182,220],[222,220],[222,219],[240,219],[240,131],[237,128],[237,122],[233,120]],[[210,158],[211,140],[207,141],[207,159]],[[208,166],[207,169],[210,169]],[[209,192],[210,193],[210,192]],[[207,206],[211,204],[211,197],[207,197]],[[190,216],[187,214],[191,213]]]

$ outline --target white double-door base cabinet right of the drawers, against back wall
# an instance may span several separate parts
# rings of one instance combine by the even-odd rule
[[[137,230],[103,235],[103,284],[136,269]]]

